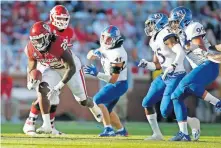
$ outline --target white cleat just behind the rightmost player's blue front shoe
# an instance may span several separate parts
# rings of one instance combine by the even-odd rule
[[[200,138],[200,120],[197,118],[190,118],[187,122],[192,129],[192,140],[197,141]]]

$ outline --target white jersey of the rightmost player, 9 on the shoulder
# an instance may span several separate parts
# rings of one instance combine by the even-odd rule
[[[207,58],[204,56],[204,54],[205,54],[204,50],[202,50],[200,48],[194,49],[194,45],[191,44],[192,39],[194,39],[198,36],[202,36],[203,40],[204,40],[205,47],[207,48],[207,50],[208,50],[209,46],[211,46],[211,45],[205,37],[206,31],[205,31],[203,25],[198,22],[191,22],[184,29],[184,32],[186,34],[186,41],[190,42],[190,48],[192,48],[192,50],[186,51],[187,60],[190,62],[190,65],[193,68],[195,68],[198,65],[202,64],[203,62],[205,62],[207,60]]]

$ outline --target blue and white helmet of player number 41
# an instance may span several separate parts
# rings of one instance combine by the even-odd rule
[[[117,41],[121,40],[120,30],[113,25],[106,27],[100,36],[101,47],[106,49],[111,49],[115,47]]]

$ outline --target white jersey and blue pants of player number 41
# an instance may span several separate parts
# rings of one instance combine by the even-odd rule
[[[126,93],[128,89],[127,52],[123,46],[114,49],[101,49],[100,52],[101,64],[103,66],[105,75],[111,76],[111,64],[124,63],[117,82],[114,84],[107,83],[93,97],[96,104],[104,104],[111,113],[120,96]]]

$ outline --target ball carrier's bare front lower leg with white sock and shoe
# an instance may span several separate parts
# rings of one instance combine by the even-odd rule
[[[50,110],[50,102],[48,100],[47,94],[50,91],[48,88],[49,85],[47,82],[41,82],[39,84],[39,93],[38,93],[38,98],[39,98],[39,106],[41,109],[42,113],[42,119],[43,119],[43,125],[36,130],[37,133],[42,134],[50,134],[52,132],[52,127],[51,127],[51,122],[50,122],[50,115],[49,115],[49,110]]]

